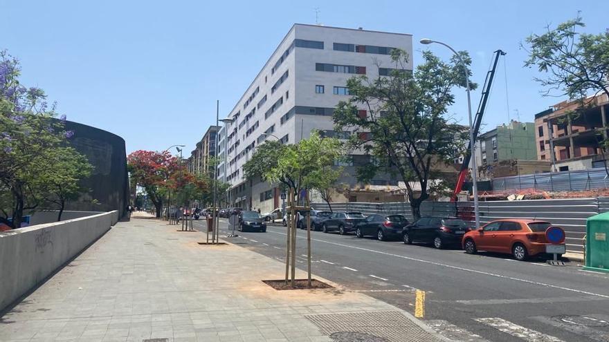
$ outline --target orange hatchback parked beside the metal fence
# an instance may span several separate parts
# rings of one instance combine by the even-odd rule
[[[468,231],[462,240],[468,254],[494,251],[511,254],[516,260],[545,253],[545,230],[550,222],[538,220],[496,220],[478,230]],[[558,255],[560,256],[560,255]]]

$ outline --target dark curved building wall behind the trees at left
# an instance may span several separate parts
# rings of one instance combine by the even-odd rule
[[[112,211],[122,217],[129,203],[129,176],[125,140],[116,134],[95,127],[66,121],[66,130],[74,131],[72,146],[87,156],[94,169],[82,185],[91,191],[78,202],[66,205],[68,210]],[[99,204],[91,203],[96,199]]]

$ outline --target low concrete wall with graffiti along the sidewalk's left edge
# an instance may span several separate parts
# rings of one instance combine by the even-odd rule
[[[118,222],[118,211],[0,232],[0,311]]]

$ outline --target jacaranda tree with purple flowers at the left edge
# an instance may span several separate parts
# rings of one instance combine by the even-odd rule
[[[73,189],[91,168],[69,147],[74,132],[64,129],[65,117],[55,119],[42,89],[21,85],[20,71],[19,60],[0,50],[0,222],[13,228],[21,227],[24,212],[55,207],[52,182]],[[85,171],[66,175],[65,160]]]

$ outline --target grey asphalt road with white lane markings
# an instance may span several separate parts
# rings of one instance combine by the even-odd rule
[[[228,230],[224,219],[221,229]],[[234,243],[284,261],[285,227],[238,234]],[[576,263],[555,267],[401,241],[320,231],[311,236],[313,274],[411,313],[415,289],[424,290],[424,321],[451,339],[609,341],[608,274]],[[306,231],[298,230],[297,245],[297,267],[306,269]]]

